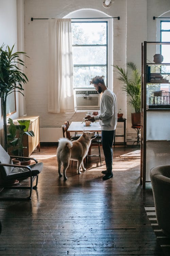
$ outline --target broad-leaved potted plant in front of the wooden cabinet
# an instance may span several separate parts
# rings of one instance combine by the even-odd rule
[[[33,131],[28,131],[28,128],[30,126],[30,120],[29,119],[22,119],[17,120],[18,124],[14,124],[13,120],[11,118],[8,118],[8,147],[11,147],[11,153],[15,156],[24,156],[23,150],[24,148],[27,148],[23,145],[23,137],[24,134],[27,134],[28,136],[34,137]]]

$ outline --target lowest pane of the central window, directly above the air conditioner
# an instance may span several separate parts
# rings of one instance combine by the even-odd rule
[[[104,75],[106,83],[106,67],[74,67],[74,88],[94,88],[89,82],[96,75]]]

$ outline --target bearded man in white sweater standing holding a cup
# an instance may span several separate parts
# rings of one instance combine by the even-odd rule
[[[113,91],[106,87],[103,75],[92,78],[90,84],[93,84],[99,94],[103,93],[103,95],[100,102],[100,114],[98,112],[93,112],[93,116],[88,115],[85,118],[90,120],[90,122],[99,120],[101,125],[102,147],[106,162],[106,170],[102,171],[102,173],[105,174],[103,180],[108,180],[113,177],[112,146],[117,125],[117,100]]]

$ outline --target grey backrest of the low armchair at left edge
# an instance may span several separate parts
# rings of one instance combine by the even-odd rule
[[[8,153],[4,150],[4,148],[0,145],[0,163],[6,163],[12,165],[12,159],[8,155]],[[9,166],[0,166],[0,172],[2,179],[5,179],[5,177],[10,174],[13,171],[14,167]]]

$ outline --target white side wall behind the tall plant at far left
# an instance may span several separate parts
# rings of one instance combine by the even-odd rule
[[[17,0],[0,1],[0,45],[7,44],[17,51]],[[10,117],[18,116],[18,94],[16,94],[17,112]],[[2,113],[0,104],[0,113]],[[3,144],[3,118],[0,115],[0,143]]]

